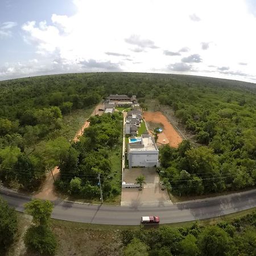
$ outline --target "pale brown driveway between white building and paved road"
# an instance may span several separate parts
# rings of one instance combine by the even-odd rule
[[[123,181],[126,183],[136,183],[139,175],[146,177],[144,188],[139,191],[138,188],[123,188],[121,206],[137,208],[142,205],[170,205],[171,200],[167,191],[162,191],[159,186],[159,176],[155,168],[131,168],[123,172]]]

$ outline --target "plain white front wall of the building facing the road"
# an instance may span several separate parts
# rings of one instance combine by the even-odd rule
[[[153,167],[158,165],[158,151],[130,151],[129,168]]]

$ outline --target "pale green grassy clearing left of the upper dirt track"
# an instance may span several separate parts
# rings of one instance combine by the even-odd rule
[[[72,140],[86,119],[90,117],[94,108],[95,106],[89,109],[76,109],[72,110],[70,114],[63,115],[63,127],[60,130],[60,135]]]

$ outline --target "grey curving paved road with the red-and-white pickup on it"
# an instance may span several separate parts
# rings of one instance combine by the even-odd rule
[[[23,204],[30,197],[0,190],[12,207],[23,211]],[[160,216],[161,223],[183,222],[222,216],[256,207],[256,189],[222,196],[208,201],[188,201],[176,205],[159,204],[140,207],[136,201],[130,207],[87,205],[55,201],[52,217],[60,220],[88,222],[94,224],[138,225],[141,216]]]

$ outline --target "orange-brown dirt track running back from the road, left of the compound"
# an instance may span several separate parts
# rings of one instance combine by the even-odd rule
[[[104,106],[102,103],[98,104],[96,106],[96,108],[93,110],[92,115],[102,115],[103,111],[99,111],[99,109],[103,109]],[[82,133],[84,133],[84,129],[86,127],[88,127],[90,125],[90,123],[86,120],[84,125],[82,125],[81,129],[79,131],[77,131],[75,137],[73,138],[73,141],[79,141],[79,137],[82,135]],[[52,170],[52,174],[55,178],[55,180],[57,179],[57,177],[59,176],[59,169],[56,166],[55,168],[53,168]],[[54,187],[54,181],[53,181],[53,177],[52,177],[51,172],[49,172],[49,174],[47,174],[46,176],[46,180],[44,181],[44,184],[42,185],[42,188],[40,189],[40,192],[37,193],[36,195],[34,195],[34,197],[39,198],[39,199],[44,199],[44,200],[56,200],[58,199],[56,193],[55,193],[55,187]]]

